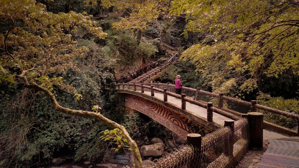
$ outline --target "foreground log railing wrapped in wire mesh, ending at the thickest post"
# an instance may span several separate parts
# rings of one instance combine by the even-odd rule
[[[152,161],[146,168],[232,167],[248,150],[248,120],[227,120],[224,126],[203,138],[187,135],[186,146]]]

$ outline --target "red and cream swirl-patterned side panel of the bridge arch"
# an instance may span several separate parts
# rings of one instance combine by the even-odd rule
[[[185,124],[186,117],[143,97],[126,94],[125,106],[149,116],[184,139],[192,132]]]

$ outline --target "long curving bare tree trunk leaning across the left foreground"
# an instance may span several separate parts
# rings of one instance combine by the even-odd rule
[[[104,123],[106,126],[111,127],[112,129],[119,128],[120,130],[122,130],[123,134],[125,135],[125,138],[128,141],[128,145],[132,149],[132,155],[134,158],[134,163],[132,163],[133,166],[135,168],[142,168],[142,160],[141,160],[141,155],[140,155],[138,146],[137,146],[136,142],[134,140],[132,140],[132,138],[130,137],[129,133],[126,131],[126,128],[124,126],[122,126],[112,120],[109,120],[108,118],[104,117],[100,113],[88,112],[88,111],[83,111],[83,110],[72,110],[72,109],[68,109],[68,108],[60,106],[59,103],[57,102],[55,96],[47,88],[43,88],[40,85],[36,84],[35,82],[28,83],[28,80],[27,80],[27,77],[25,76],[25,74],[28,71],[32,71],[33,69],[34,68],[28,69],[26,71],[23,71],[22,74],[17,75],[18,77],[20,77],[24,80],[25,87],[32,88],[37,92],[38,91],[44,92],[50,98],[51,104],[53,105],[54,109],[58,112],[62,112],[62,113],[74,115],[74,116],[79,116],[79,117],[94,118],[96,120],[100,120],[102,123]]]

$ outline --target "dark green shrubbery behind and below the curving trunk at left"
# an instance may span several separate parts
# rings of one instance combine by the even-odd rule
[[[93,41],[82,40],[79,45],[89,47],[84,58],[74,61],[80,71],[69,68],[65,74],[53,75],[63,77],[64,83],[72,85],[83,99],[75,102],[73,95],[58,86],[53,86],[53,93],[67,108],[90,111],[96,104],[104,106],[101,87],[112,80],[115,59],[102,54]],[[94,119],[56,112],[43,93],[0,85],[0,167],[29,167],[70,151],[90,160],[106,157],[99,154],[108,153],[107,145],[97,140],[99,133],[107,129],[105,126],[94,126]],[[83,149],[89,150],[84,153]]]

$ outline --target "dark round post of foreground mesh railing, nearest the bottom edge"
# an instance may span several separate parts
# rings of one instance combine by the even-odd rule
[[[202,136],[200,134],[188,134],[186,145],[192,145],[193,147],[193,157],[188,162],[187,168],[199,168],[201,165]]]

